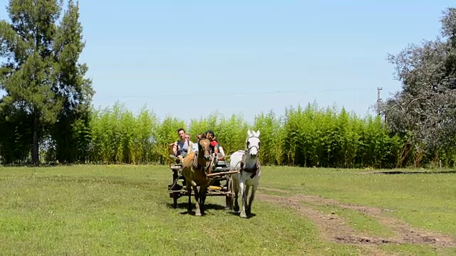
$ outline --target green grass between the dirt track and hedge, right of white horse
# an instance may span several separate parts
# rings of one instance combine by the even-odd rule
[[[271,167],[261,186],[393,210],[416,227],[456,238],[456,173],[366,174],[364,170]],[[372,171],[370,171],[372,172]],[[279,175],[278,175],[279,174]]]

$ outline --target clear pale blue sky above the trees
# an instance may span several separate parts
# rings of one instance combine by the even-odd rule
[[[7,2],[0,0],[1,17]],[[400,89],[387,53],[435,38],[454,1],[79,4],[95,107],[118,100],[161,118],[218,111],[251,122],[314,101],[373,113],[377,87],[383,98]]]

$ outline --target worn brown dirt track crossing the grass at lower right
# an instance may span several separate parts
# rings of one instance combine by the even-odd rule
[[[301,215],[304,215],[306,218],[309,218],[316,223],[319,230],[321,230],[323,238],[333,242],[342,242],[352,245],[427,244],[440,247],[456,245],[456,240],[453,238],[439,233],[432,233],[418,228],[413,228],[400,220],[383,215],[385,211],[390,211],[388,209],[349,205],[346,203],[339,203],[338,201],[332,199],[320,198],[318,196],[296,195],[286,198],[284,196],[259,194],[257,197],[263,201],[296,208]],[[300,201],[314,203],[317,205],[333,205],[341,208],[361,211],[362,213],[371,215],[373,218],[377,218],[381,224],[388,226],[388,228],[395,231],[397,235],[392,238],[380,238],[363,234],[346,225],[343,218],[340,218],[337,215],[322,213],[319,210],[301,206]],[[380,252],[374,253],[378,255]]]

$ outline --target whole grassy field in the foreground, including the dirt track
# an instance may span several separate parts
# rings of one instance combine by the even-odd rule
[[[254,217],[171,207],[166,166],[0,168],[1,255],[456,255],[456,174],[262,169]]]

